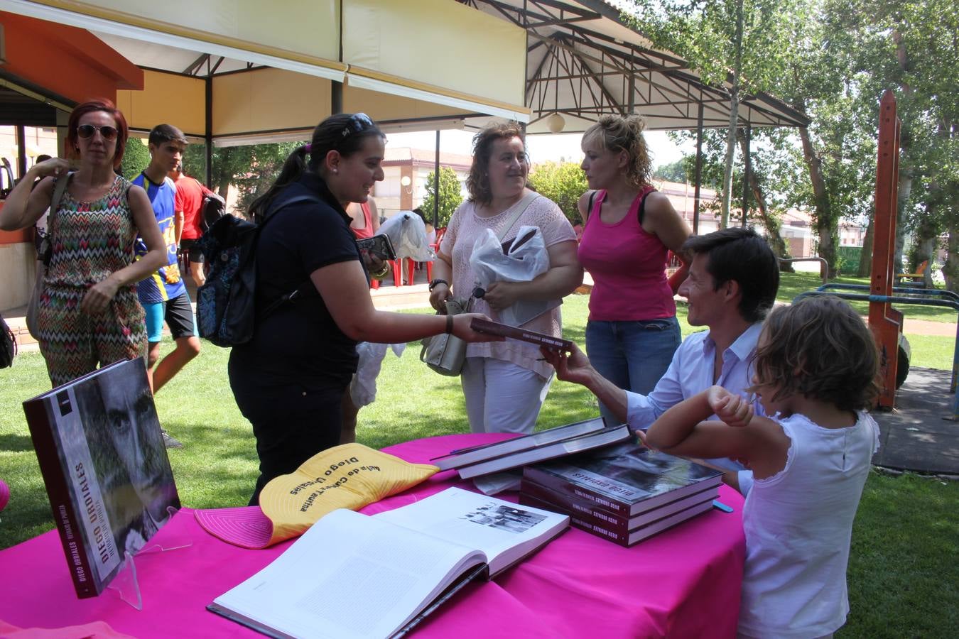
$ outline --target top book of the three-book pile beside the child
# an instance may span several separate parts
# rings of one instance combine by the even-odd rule
[[[629,443],[527,466],[523,477],[632,517],[719,486],[722,471]]]

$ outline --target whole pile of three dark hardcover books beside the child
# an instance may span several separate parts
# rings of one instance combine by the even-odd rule
[[[631,546],[713,508],[722,472],[627,443],[523,468],[520,503]]]

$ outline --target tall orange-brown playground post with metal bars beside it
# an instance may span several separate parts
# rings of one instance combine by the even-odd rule
[[[905,380],[909,366],[908,342],[905,342],[902,336],[902,313],[892,305],[947,307],[959,311],[959,296],[947,290],[894,285],[896,270],[892,258],[896,244],[900,120],[896,115],[896,98],[892,91],[886,91],[879,102],[878,142],[871,284],[869,286],[824,284],[814,291],[801,293],[796,299],[829,293],[846,300],[869,302],[869,328],[876,336],[879,347],[881,389],[878,407],[891,410],[896,403],[896,389]],[[842,289],[868,289],[868,294],[841,292]],[[836,290],[839,292],[834,292]],[[901,293],[901,295],[894,293]],[[955,351],[952,355],[952,382],[949,388],[949,392],[953,394],[952,416],[946,418],[952,421],[959,421],[957,373],[959,373],[959,322],[956,325]]]

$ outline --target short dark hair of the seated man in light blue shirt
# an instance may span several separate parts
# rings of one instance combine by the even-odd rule
[[[779,261],[752,228],[692,236],[680,250],[690,260],[696,255],[709,256],[706,270],[713,276],[713,290],[731,280],[739,285],[739,314],[747,322],[759,322],[773,308],[779,290]]]

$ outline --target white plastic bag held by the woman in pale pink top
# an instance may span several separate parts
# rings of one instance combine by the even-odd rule
[[[470,265],[476,275],[476,286],[488,288],[494,282],[529,282],[550,270],[550,254],[546,250],[543,233],[536,226],[521,226],[516,238],[503,253],[503,243],[491,229],[486,229],[476,243]],[[520,300],[500,311],[499,321],[510,326],[522,326],[561,300]]]

